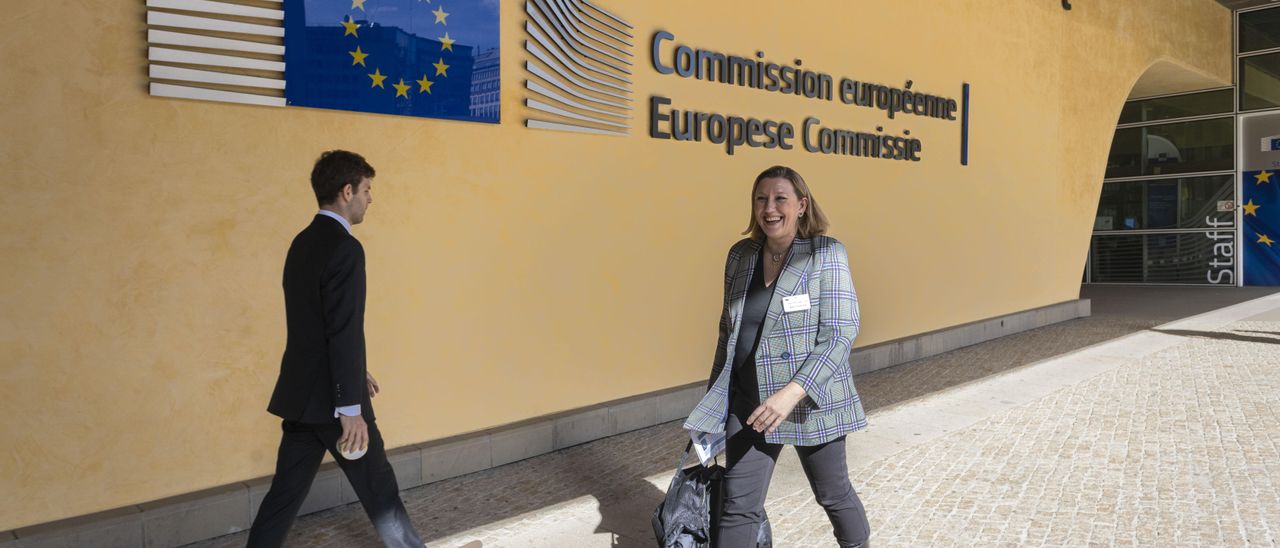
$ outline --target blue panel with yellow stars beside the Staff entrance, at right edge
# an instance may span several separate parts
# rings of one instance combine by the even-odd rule
[[[1244,284],[1280,286],[1280,172],[1244,172]]]

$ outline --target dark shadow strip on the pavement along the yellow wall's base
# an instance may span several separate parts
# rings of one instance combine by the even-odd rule
[[[1111,341],[1156,325],[1235,305],[1275,292],[1272,288],[1098,287],[1082,289],[1093,300],[1093,316],[1004,337],[934,357],[859,375],[859,394],[868,411],[928,396],[986,376]],[[865,318],[864,321],[874,321]],[[1164,330],[1189,337],[1228,337],[1280,343],[1276,338],[1224,333]],[[1274,333],[1263,333],[1274,334]],[[675,471],[685,446],[680,423],[668,423],[403,493],[413,524],[429,544],[484,528],[480,539],[458,545],[504,544],[507,520],[536,520],[536,511],[598,521],[595,533],[611,534],[617,547],[650,547],[649,517],[664,487],[645,478]],[[666,479],[663,480],[666,484]],[[548,522],[548,526],[554,526]],[[244,533],[197,545],[239,547]],[[360,504],[347,504],[300,517],[289,535],[296,547],[376,547],[378,538]]]

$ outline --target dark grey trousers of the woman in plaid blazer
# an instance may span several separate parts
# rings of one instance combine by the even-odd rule
[[[746,425],[751,411],[754,410],[735,401],[724,425],[724,502],[716,540],[718,548],[755,547],[760,522],[764,520],[764,498],[783,447],[767,443],[764,434]],[[820,446],[796,446],[796,455],[800,456],[800,466],[818,504],[827,511],[835,528],[836,542],[841,547],[865,544],[870,536],[870,525],[867,522],[863,502],[849,483],[845,438]]]

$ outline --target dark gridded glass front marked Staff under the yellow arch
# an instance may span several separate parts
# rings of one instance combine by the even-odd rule
[[[1235,284],[1234,95],[1224,88],[1125,104],[1085,282]]]

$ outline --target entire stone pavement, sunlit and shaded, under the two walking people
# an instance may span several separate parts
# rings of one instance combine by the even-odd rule
[[[1167,323],[1266,293],[1091,287],[1093,318],[859,376],[872,426],[849,465],[873,544],[1280,543],[1280,294]],[[685,439],[658,425],[403,498],[430,547],[652,547]],[[835,545],[791,451],[767,510],[777,545]],[[289,545],[379,543],[348,504]]]

